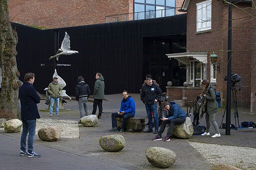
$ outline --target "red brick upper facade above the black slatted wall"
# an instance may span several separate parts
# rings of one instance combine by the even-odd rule
[[[182,0],[176,3],[180,7]],[[105,16],[124,13],[130,14],[107,19],[132,20],[132,12],[133,0],[9,0],[12,22],[43,28],[105,23]]]

